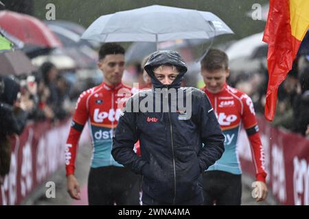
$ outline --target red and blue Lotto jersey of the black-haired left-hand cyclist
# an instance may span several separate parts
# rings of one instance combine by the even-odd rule
[[[92,168],[122,166],[111,155],[112,138],[121,114],[121,105],[131,96],[131,88],[119,83],[115,87],[106,83],[82,92],[76,104],[66,145],[66,170],[71,175],[75,170],[76,150],[85,123],[91,129],[93,144]]]

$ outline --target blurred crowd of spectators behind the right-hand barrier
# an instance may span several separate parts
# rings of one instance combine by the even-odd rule
[[[248,94],[255,112],[264,114],[267,69],[252,72],[231,70],[229,84]],[[273,127],[284,127],[303,136],[309,135],[309,56],[299,56],[293,68],[278,89],[277,107]]]

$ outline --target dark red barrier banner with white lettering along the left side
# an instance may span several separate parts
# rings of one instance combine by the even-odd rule
[[[49,122],[32,123],[21,136],[12,139],[10,173],[0,187],[0,205],[21,204],[56,170],[65,168],[65,142],[70,122],[66,120],[56,127]],[[82,135],[80,142],[87,140],[89,136]]]

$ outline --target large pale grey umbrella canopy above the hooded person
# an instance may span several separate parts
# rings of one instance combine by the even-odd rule
[[[233,31],[211,12],[152,5],[100,16],[82,35],[98,42],[209,39]]]

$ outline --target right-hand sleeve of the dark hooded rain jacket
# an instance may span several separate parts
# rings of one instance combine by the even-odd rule
[[[204,144],[201,151],[198,153],[198,159],[201,171],[207,170],[209,166],[214,164],[225,151],[222,130],[214,114],[214,109],[206,94],[201,96],[198,108],[199,125],[201,127],[201,138]]]

